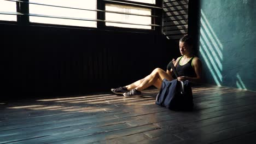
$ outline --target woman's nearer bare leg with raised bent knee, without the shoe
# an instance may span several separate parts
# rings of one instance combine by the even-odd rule
[[[173,80],[173,77],[169,74],[166,73],[166,71],[160,69],[160,68],[156,68],[152,71],[152,73],[145,77],[145,79],[143,80],[143,82],[141,84],[139,84],[139,86],[136,87],[136,89],[138,91],[142,91],[143,89],[152,86],[152,85],[156,85],[159,88],[159,81],[162,82],[162,80],[168,80],[171,81]],[[159,81],[158,81],[159,80]]]

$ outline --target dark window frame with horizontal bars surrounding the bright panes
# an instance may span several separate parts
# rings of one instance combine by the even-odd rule
[[[13,0],[14,2],[15,0]],[[100,31],[125,31],[125,32],[157,32],[161,33],[162,26],[162,0],[156,0],[155,4],[150,3],[141,3],[133,1],[124,1],[124,0],[96,0],[96,22],[97,27],[81,27],[81,26],[68,26],[68,25],[56,25],[50,23],[36,23],[30,22],[29,18],[29,0],[16,0],[16,16],[17,21],[4,21],[0,20],[0,23],[11,24],[11,25],[25,25],[25,26],[43,26],[43,27],[60,27],[60,28],[74,28],[74,29],[95,29]],[[128,27],[116,27],[116,26],[106,26],[105,20],[105,5],[106,4],[118,4],[118,5],[129,5],[133,7],[141,8],[150,8],[152,10],[152,25],[158,23],[159,26],[152,26],[152,29],[143,29],[143,28],[128,28]],[[25,15],[19,15],[25,14]]]

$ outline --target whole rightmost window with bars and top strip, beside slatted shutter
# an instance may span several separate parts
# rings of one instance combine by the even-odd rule
[[[156,29],[162,8],[155,0],[104,0],[106,26]]]

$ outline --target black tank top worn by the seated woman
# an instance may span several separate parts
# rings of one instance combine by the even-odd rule
[[[189,77],[196,77],[196,73],[194,68],[192,67],[192,62],[194,59],[194,56],[192,58],[190,58],[190,60],[184,64],[181,65],[181,59],[183,58],[183,56],[181,58],[179,58],[176,70],[179,76],[189,76]]]

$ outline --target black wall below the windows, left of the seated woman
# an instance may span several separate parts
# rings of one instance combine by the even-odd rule
[[[164,35],[0,25],[1,98],[109,92],[166,69],[178,44]]]

